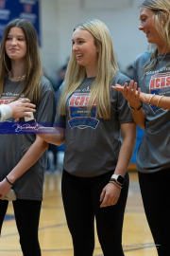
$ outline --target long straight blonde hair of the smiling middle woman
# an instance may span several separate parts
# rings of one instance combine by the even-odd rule
[[[98,49],[98,70],[89,95],[88,111],[91,112],[93,102],[97,99],[97,113],[99,117],[110,119],[110,81],[118,70],[110,31],[103,22],[96,19],[78,24],[74,31],[77,27],[87,30],[93,35],[94,45]],[[72,52],[66,71],[63,92],[59,101],[60,115],[66,114],[66,101],[68,101],[85,77],[85,67],[76,63],[76,56]]]

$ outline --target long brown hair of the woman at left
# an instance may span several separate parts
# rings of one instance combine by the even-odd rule
[[[12,27],[21,27],[26,36],[26,78],[24,85],[14,101],[22,94],[36,105],[41,97],[42,64],[35,27],[24,19],[14,19],[5,27],[0,46],[0,97],[4,90],[4,82],[11,68],[10,59],[6,53],[8,32]]]

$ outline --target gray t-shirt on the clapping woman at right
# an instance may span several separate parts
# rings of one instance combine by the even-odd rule
[[[134,81],[141,91],[149,94],[170,96],[170,54],[158,55],[156,66],[146,72],[141,69],[149,60],[144,52],[134,62]],[[146,115],[144,137],[138,147],[137,169],[141,173],[154,173],[170,167],[170,111],[143,103]]]

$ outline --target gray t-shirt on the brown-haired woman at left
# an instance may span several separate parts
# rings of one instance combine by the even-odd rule
[[[6,80],[4,92],[0,103],[12,101],[21,89],[23,82],[11,82]],[[24,95],[22,96],[24,98]],[[37,122],[53,123],[56,113],[55,95],[50,82],[42,77],[41,101],[34,118]],[[13,122],[14,119],[7,121]],[[24,121],[24,119],[21,119]],[[34,134],[0,134],[0,180],[17,165],[26,151],[34,143],[36,135]],[[47,151],[45,151],[39,160],[20,178],[18,178],[12,189],[16,192],[19,199],[42,200],[43,174],[46,168]]]

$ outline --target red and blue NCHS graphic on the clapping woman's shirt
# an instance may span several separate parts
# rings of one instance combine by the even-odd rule
[[[156,94],[156,95],[164,95],[164,96],[170,96],[170,73],[160,73],[155,76],[152,76],[150,79],[149,84],[149,91],[150,94]],[[163,109],[161,107],[157,107],[153,104],[150,104],[150,107],[154,113],[156,113],[159,109],[161,110],[167,110]]]

